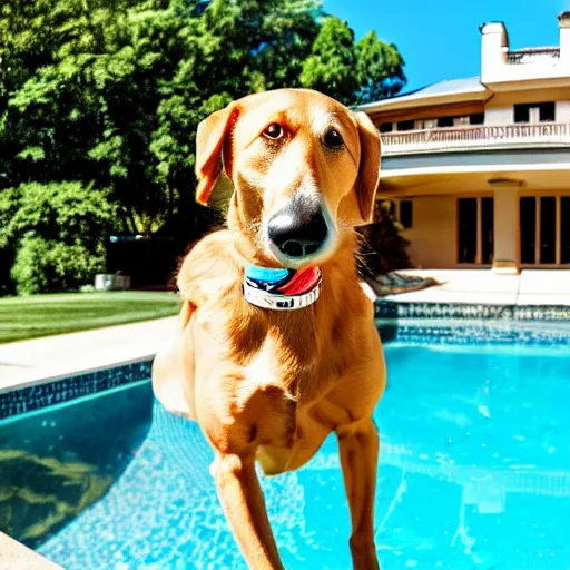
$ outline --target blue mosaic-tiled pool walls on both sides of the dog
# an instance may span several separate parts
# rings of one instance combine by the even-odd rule
[[[570,347],[568,306],[394,303],[380,299],[384,342],[429,344],[543,344]],[[542,326],[537,326],[540,321]],[[517,326],[513,326],[517,322]],[[556,326],[556,324],[559,326]],[[549,326],[544,326],[548,324]],[[151,360],[47,380],[0,394],[0,420],[150,379]]]

